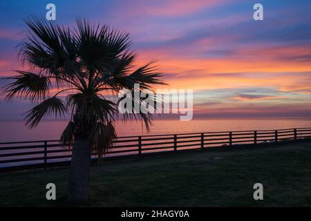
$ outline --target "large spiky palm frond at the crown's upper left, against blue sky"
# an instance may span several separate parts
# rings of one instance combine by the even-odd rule
[[[26,20],[30,28],[28,38],[22,41],[19,52],[23,61],[56,77],[57,86],[66,86],[73,80],[81,65],[77,61],[76,41],[68,28],[37,17]]]

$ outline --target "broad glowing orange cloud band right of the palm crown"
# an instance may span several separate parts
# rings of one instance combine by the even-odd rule
[[[156,58],[160,70],[167,73],[171,88],[201,90],[272,87],[280,90],[310,90],[311,62],[308,59],[296,59],[308,57],[310,51],[310,45],[283,48],[254,46],[237,50],[234,55],[204,59],[189,58],[187,54],[175,52],[168,47],[141,50],[138,64],[142,65]],[[240,76],[238,73],[244,74]]]

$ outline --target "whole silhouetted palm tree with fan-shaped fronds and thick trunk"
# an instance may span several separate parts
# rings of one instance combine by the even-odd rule
[[[88,200],[88,180],[92,153],[107,153],[116,139],[117,119],[142,119],[147,129],[150,113],[122,114],[115,95],[122,88],[152,90],[164,84],[150,62],[135,68],[137,55],[129,50],[129,34],[109,26],[77,19],[77,27],[59,26],[32,17],[25,20],[29,33],[21,42],[19,55],[29,64],[28,71],[17,70],[5,88],[7,99],[22,97],[37,102],[26,113],[33,128],[47,115],[70,114],[70,122],[59,141],[72,146],[68,178],[68,200],[81,204]],[[132,102],[142,99],[132,98]]]

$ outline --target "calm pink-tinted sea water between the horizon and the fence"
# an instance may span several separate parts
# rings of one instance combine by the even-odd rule
[[[0,121],[0,142],[57,140],[66,124],[65,121],[46,121],[30,130],[24,126],[23,121]],[[311,128],[311,118],[195,119],[189,122],[180,122],[177,119],[156,119],[149,133],[145,129],[142,130],[141,122],[118,122],[116,124],[119,136],[299,127]]]

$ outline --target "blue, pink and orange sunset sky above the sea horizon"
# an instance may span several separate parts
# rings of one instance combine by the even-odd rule
[[[195,117],[311,117],[311,1],[1,1],[0,86],[24,68],[23,19],[45,17],[48,3],[59,24],[87,18],[129,32],[138,65],[156,60],[166,88],[194,90]],[[31,106],[1,92],[0,119]]]

